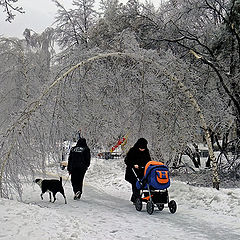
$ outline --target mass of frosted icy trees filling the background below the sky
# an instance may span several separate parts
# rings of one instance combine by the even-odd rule
[[[144,136],[169,165],[189,144],[216,142],[238,176],[238,153],[228,157],[239,143],[238,0],[102,1],[101,12],[54,2],[54,28],[0,39],[2,196],[59,162],[78,129],[96,151],[129,134],[126,153]],[[222,159],[210,160],[217,174]]]

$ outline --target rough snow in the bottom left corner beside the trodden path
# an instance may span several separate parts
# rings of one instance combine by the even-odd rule
[[[71,219],[54,209],[0,199],[0,213],[1,240],[69,239],[69,233],[65,234],[63,230],[71,224]],[[84,229],[91,230],[86,225]],[[83,231],[81,235],[84,236]]]

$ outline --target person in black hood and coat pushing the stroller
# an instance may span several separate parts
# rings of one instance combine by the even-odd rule
[[[136,187],[137,178],[132,169],[134,169],[139,179],[143,178],[144,167],[151,161],[149,150],[147,148],[147,140],[139,138],[132,148],[128,151],[124,162],[127,165],[125,180],[132,184],[131,201],[135,203],[136,199],[140,197],[140,190]]]

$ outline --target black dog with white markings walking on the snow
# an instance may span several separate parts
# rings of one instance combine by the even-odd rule
[[[53,194],[53,203],[56,201],[56,193],[57,192],[60,192],[64,199],[65,199],[65,203],[67,203],[67,199],[66,199],[66,196],[64,194],[64,189],[63,189],[63,186],[62,186],[62,177],[60,177],[60,181],[59,180],[55,180],[55,179],[40,179],[40,178],[37,178],[35,181],[35,183],[37,183],[41,190],[42,190],[42,193],[41,193],[41,199],[43,199],[43,194],[45,192],[49,192],[49,197],[50,197],[50,202],[52,202],[52,197],[51,197],[51,192]]]

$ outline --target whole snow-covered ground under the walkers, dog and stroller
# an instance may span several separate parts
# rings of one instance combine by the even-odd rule
[[[0,199],[0,240],[240,239],[240,189],[217,191],[172,181],[169,196],[177,212],[166,206],[149,215],[145,206],[137,212],[129,202],[124,167],[121,159],[93,159],[80,201],[73,200],[66,170],[52,168],[53,176],[64,178],[68,204],[61,194],[54,204],[48,194],[42,201],[39,186],[25,183],[23,203]]]

